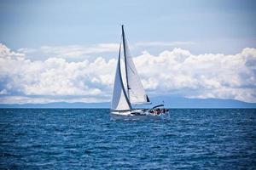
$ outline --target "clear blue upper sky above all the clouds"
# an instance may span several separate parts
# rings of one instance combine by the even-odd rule
[[[196,42],[195,53],[237,53],[256,42],[254,1],[2,1],[9,48],[118,42]],[[220,47],[221,46],[221,47]]]

